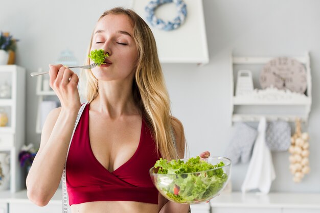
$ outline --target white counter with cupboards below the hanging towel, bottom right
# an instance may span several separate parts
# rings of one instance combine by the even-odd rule
[[[319,193],[225,193],[210,201],[211,213],[320,213]]]

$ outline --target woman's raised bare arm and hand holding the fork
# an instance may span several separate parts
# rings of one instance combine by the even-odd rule
[[[50,86],[62,107],[52,110],[45,120],[40,148],[26,180],[28,198],[39,206],[48,204],[61,180],[68,145],[81,106],[77,84],[78,77],[70,69],[62,65],[51,66]]]

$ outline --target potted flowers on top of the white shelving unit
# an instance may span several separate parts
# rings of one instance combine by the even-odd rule
[[[9,33],[0,34],[0,65],[13,64],[14,52],[16,50],[16,42]]]

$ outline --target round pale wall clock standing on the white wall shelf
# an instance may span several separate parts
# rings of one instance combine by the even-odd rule
[[[307,89],[307,72],[299,61],[288,57],[278,57],[270,60],[262,68],[260,85],[262,89],[273,85],[278,89],[304,93]]]

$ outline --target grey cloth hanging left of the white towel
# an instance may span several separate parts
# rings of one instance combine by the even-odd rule
[[[245,123],[235,124],[235,131],[224,155],[230,158],[233,164],[238,163],[240,158],[242,163],[248,162],[252,154],[257,133],[256,129]]]

